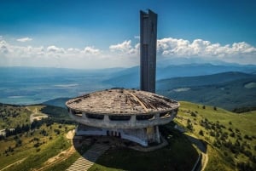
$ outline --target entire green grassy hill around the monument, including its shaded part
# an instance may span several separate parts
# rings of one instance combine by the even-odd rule
[[[32,123],[29,129],[21,127],[20,132],[0,139],[0,169],[65,170],[83,154],[84,151],[73,151],[66,156],[67,151],[72,149],[72,142],[66,139],[65,134],[74,125],[67,124],[69,120],[61,108],[45,105],[1,105],[0,125],[2,128],[15,128],[17,124],[25,124],[35,109],[47,113],[49,118]],[[17,114],[13,116],[14,113]],[[9,121],[9,125],[5,121]],[[169,145],[147,153],[113,146],[98,159],[90,171],[191,170],[199,154],[188,136],[202,140],[207,146],[206,171],[255,170],[255,121],[256,111],[236,114],[218,107],[182,101],[174,123],[160,127],[161,134],[166,137]],[[177,131],[173,128],[175,124],[183,127],[186,132]],[[49,161],[57,157],[64,158],[49,164]]]

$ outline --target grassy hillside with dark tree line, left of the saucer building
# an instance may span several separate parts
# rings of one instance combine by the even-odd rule
[[[75,126],[67,124],[68,120],[67,123],[63,122],[66,121],[65,117],[58,118],[61,114],[54,117],[49,112],[49,118],[30,123],[30,115],[34,111],[38,111],[38,115],[42,114],[40,111],[44,109],[53,111],[55,108],[45,105],[0,105],[1,128],[15,128],[6,133],[6,136],[0,136],[0,170],[25,171],[42,167],[46,170],[51,167],[50,158],[57,161],[56,165],[61,163],[53,158],[61,152],[66,160],[66,163],[61,163],[61,167],[70,165],[79,157],[79,152],[73,151],[65,158],[65,151],[72,147],[72,141],[66,139],[66,133]]]

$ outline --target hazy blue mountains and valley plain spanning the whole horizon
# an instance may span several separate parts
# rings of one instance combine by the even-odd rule
[[[0,67],[0,102],[65,107],[68,98],[105,88],[139,88],[139,66],[102,70]],[[156,91],[175,100],[234,109],[256,106],[256,66],[157,66]],[[67,98],[62,98],[67,97]]]

